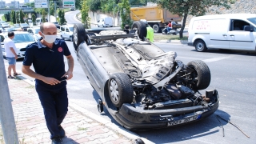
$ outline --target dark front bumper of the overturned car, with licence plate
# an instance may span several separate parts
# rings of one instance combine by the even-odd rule
[[[206,118],[218,110],[218,104],[219,101],[211,106],[190,106],[169,110],[142,110],[130,104],[123,104],[114,117],[129,130],[167,128]]]

